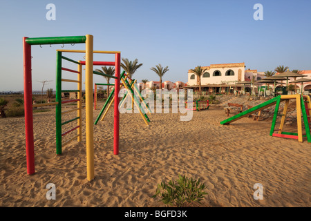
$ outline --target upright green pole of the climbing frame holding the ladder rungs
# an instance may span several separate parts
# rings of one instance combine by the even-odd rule
[[[56,154],[62,154],[62,52],[56,52]]]

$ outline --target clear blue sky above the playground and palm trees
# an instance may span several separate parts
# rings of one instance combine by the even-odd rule
[[[55,20],[46,19],[49,3]],[[263,6],[263,20],[254,19],[256,3]],[[133,75],[138,82],[159,81],[150,69],[157,64],[169,67],[162,81],[185,83],[189,69],[210,64],[245,62],[259,72],[279,65],[311,70],[310,12],[310,0],[0,0],[0,91],[23,90],[23,37],[93,35],[94,50],[121,51],[122,58],[143,64]],[[44,90],[55,90],[57,49],[62,45],[32,46],[32,90],[41,90],[42,81],[48,81]],[[64,56],[84,60],[83,54]],[[96,61],[114,59],[94,55]],[[77,69],[69,62],[64,67]],[[95,75],[93,81],[106,79]],[[64,82],[62,88],[76,84]]]

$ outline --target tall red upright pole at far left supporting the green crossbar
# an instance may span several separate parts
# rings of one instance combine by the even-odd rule
[[[27,173],[35,173],[35,151],[33,142],[32,119],[32,81],[31,81],[31,45],[23,37],[23,99],[25,106],[25,134],[26,134],[26,161]]]

